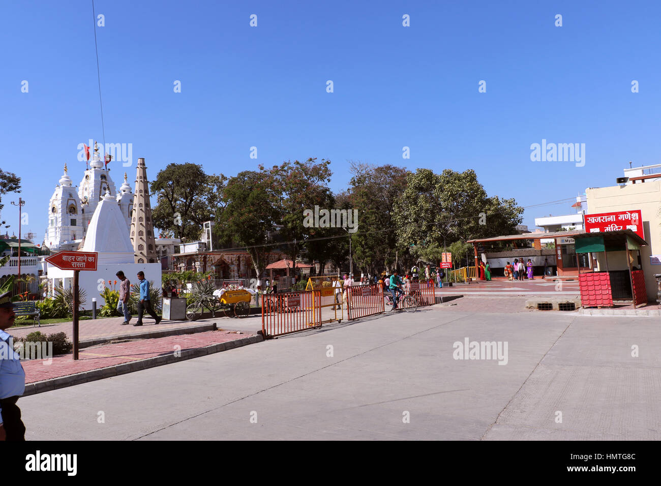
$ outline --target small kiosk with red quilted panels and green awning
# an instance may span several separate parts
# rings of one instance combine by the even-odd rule
[[[647,242],[635,231],[583,233],[574,239],[576,258],[580,253],[596,255],[593,270],[578,274],[583,307],[613,307],[614,301],[621,301],[633,304],[635,309],[647,302],[641,266],[641,247]]]

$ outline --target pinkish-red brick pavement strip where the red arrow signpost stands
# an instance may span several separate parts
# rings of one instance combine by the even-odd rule
[[[126,327],[126,326],[124,326]],[[138,328],[139,329],[139,328]],[[79,360],[74,361],[71,354],[56,356],[48,364],[46,360],[26,360],[22,362],[25,370],[25,382],[33,383],[50,380],[76,373],[106,368],[130,361],[143,360],[172,354],[175,346],[181,351],[201,348],[212,344],[227,343],[249,337],[250,334],[236,334],[229,331],[207,331],[206,333],[168,336],[155,339],[140,339],[125,343],[102,344],[84,348],[79,352]]]

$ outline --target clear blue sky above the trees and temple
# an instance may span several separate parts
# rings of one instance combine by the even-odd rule
[[[151,178],[173,162],[231,176],[319,157],[332,161],[334,190],[346,188],[350,160],[471,168],[488,194],[528,206],[614,185],[629,161],[659,162],[658,2],[95,7],[105,17],[97,39],[106,142],[133,144],[132,167],[110,165],[116,184],[125,170],[134,180],[137,157]],[[79,184],[77,145],[102,140],[91,1],[4,1],[0,39],[0,167],[22,178],[22,231],[39,243],[64,163]],[[585,143],[584,167],[532,162],[530,145],[542,139]],[[18,196],[3,198],[10,235]],[[531,208],[524,223],[572,212],[570,204]]]

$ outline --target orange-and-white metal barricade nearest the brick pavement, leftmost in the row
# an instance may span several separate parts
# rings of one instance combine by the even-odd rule
[[[264,338],[321,327],[319,290],[264,294],[262,299],[262,335]]]

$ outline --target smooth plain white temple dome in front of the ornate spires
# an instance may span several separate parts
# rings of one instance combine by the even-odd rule
[[[134,263],[126,219],[110,191],[97,205],[87,228],[83,251],[97,251],[98,263]]]

